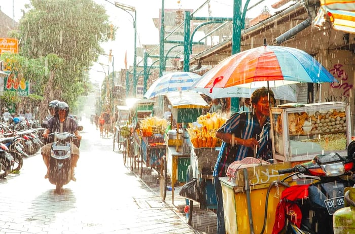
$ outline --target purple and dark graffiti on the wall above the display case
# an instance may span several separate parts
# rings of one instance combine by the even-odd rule
[[[348,101],[353,85],[348,83],[348,74],[343,70],[343,65],[337,63],[329,72],[339,81],[339,83],[334,82],[330,86],[337,89],[335,93],[341,93],[341,96],[331,95],[326,97],[326,101]]]

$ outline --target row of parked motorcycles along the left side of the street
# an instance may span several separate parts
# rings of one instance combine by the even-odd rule
[[[23,157],[40,150],[43,131],[37,121],[0,123],[0,179],[9,173],[18,173],[23,166]]]

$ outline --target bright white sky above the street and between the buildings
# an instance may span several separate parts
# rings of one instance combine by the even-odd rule
[[[134,54],[134,29],[132,16],[120,8],[114,6],[114,0],[94,0],[95,3],[103,5],[107,10],[107,14],[110,16],[112,24],[118,27],[116,32],[116,40],[103,43],[101,47],[106,54],[109,54],[112,49],[114,55],[114,69],[119,70],[124,68],[125,52],[127,51],[127,65],[133,64]],[[152,18],[159,18],[159,9],[162,6],[162,0],[120,0],[116,1],[129,6],[134,6],[137,14],[137,47],[147,44],[159,43],[159,31],[154,26]],[[198,9],[206,0],[165,0],[165,9]],[[251,0],[248,7],[253,6],[260,0]],[[259,15],[261,9],[264,6],[270,6],[271,3],[278,2],[278,0],[264,0],[262,4],[247,12],[246,17],[254,18]],[[1,11],[7,14],[9,17],[18,21],[22,17],[21,9],[25,9],[24,5],[29,4],[29,0],[0,0]],[[245,0],[242,0],[242,6],[244,6]],[[211,0],[210,11],[213,17],[232,17],[233,0]],[[272,11],[272,8],[269,7]],[[273,14],[273,12],[271,12]],[[199,11],[200,15],[196,16],[208,16],[208,9],[204,7]],[[110,72],[112,71],[112,63],[108,61],[105,56],[100,56],[98,62],[95,62],[90,70],[90,79],[92,81],[102,81],[104,78],[103,72],[108,72],[108,66],[102,66],[102,64],[110,65]],[[99,71],[98,71],[99,70]]]

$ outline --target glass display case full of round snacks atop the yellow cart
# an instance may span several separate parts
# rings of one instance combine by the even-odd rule
[[[306,161],[327,152],[347,154],[351,141],[348,102],[295,103],[271,108],[273,157],[280,161]]]

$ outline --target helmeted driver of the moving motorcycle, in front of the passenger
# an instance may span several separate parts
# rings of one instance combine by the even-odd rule
[[[80,132],[77,130],[78,124],[72,119],[68,118],[69,106],[65,102],[58,102],[55,105],[55,115],[52,119],[50,119],[47,123],[47,129],[43,133],[43,137],[47,138],[48,134],[53,132],[69,132],[74,134],[78,140],[81,139]],[[43,157],[43,161],[47,166],[47,174],[45,175],[45,179],[48,178],[49,175],[49,157],[51,152],[52,143],[48,143],[42,147],[41,153]],[[79,159],[79,148],[72,143],[72,180],[76,181],[74,177],[74,168],[77,167],[77,162]]]

